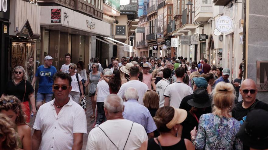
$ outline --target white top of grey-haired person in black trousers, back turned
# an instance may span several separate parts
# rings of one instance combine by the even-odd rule
[[[97,84],[97,102],[104,102],[104,99],[110,94],[109,85],[105,80]]]

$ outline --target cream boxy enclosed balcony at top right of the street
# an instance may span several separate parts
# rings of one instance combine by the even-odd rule
[[[206,22],[213,17],[212,0],[196,0],[195,18],[196,22]]]

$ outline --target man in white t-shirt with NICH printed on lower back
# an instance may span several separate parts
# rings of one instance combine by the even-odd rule
[[[192,88],[185,84],[182,80],[185,76],[185,70],[182,67],[179,67],[175,70],[175,76],[177,78],[176,82],[168,85],[164,92],[165,103],[164,106],[173,106],[179,108],[182,102],[182,99],[193,94]]]

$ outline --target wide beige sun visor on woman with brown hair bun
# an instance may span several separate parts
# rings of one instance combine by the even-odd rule
[[[174,107],[173,107],[174,108]],[[168,124],[166,124],[166,127],[171,129],[174,127],[174,125],[182,123],[187,117],[187,111],[180,108],[174,108],[174,116]]]

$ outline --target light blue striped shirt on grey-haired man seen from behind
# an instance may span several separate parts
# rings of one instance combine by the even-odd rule
[[[142,125],[147,133],[151,133],[157,129],[148,108],[140,105],[139,102],[135,99],[130,99],[127,102],[124,102],[124,105],[124,119]]]

